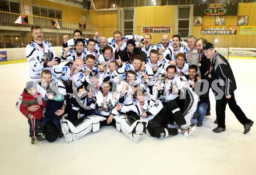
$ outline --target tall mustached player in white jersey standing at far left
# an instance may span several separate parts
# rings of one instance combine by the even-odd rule
[[[42,40],[40,26],[31,27],[31,35],[33,40],[26,46],[26,56],[30,64],[30,78],[32,81],[38,81],[41,79],[42,70],[52,71],[52,67],[58,65],[61,59],[56,55],[52,44]]]

